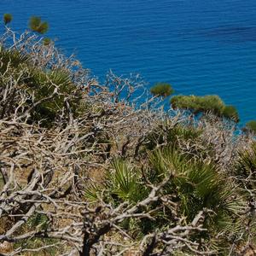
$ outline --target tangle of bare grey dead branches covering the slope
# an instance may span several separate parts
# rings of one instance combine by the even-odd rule
[[[170,144],[168,136],[161,136],[165,125],[173,130],[187,116],[154,108],[159,104],[155,98],[137,104],[141,98],[136,91],[143,85],[137,76],[123,79],[110,72],[106,84],[99,84],[73,56],[65,58],[53,44],[45,46],[29,32],[17,38],[8,30],[1,42],[0,253],[216,253],[196,237],[207,232],[203,223],[211,210],[203,207],[189,220],[177,209],[177,195],[164,193],[175,170],[169,169],[158,183],[142,173],[140,182],[148,194],[135,203],[104,196],[89,201],[85,196],[91,183],[104,179],[117,156],[147,166],[150,136],[159,135],[156,148]],[[177,135],[173,141],[189,155],[206,151],[207,160],[211,145],[224,169],[233,160],[236,144],[223,127],[212,136],[207,124],[201,121],[197,128],[203,127],[205,143]],[[223,138],[228,143],[220,143]],[[102,187],[101,194],[105,192]],[[157,223],[159,209],[171,212],[170,224],[149,229],[140,239],[124,227],[131,220]]]

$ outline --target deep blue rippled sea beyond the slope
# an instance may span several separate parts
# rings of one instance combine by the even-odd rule
[[[31,15],[48,36],[100,79],[111,68],[140,73],[148,87],[177,94],[218,94],[241,122],[256,119],[255,0],[1,0],[15,30]]]

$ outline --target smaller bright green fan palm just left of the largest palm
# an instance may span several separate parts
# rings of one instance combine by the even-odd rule
[[[149,194],[150,189],[143,183],[142,172],[137,167],[131,166],[126,160],[116,158],[112,160],[111,167],[100,185],[90,183],[85,189],[85,199],[90,202],[106,201],[114,207],[123,202],[135,205]],[[120,225],[131,234],[143,234],[143,224],[152,224],[148,221],[138,221],[136,218],[127,218]]]

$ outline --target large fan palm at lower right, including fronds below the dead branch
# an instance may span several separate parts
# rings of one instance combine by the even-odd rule
[[[161,195],[174,204],[168,206],[162,201],[154,202],[150,206],[154,221],[141,219],[138,223],[142,234],[175,226],[177,216],[189,223],[201,211],[206,212],[203,227],[207,232],[195,236],[195,240],[203,237],[213,246],[212,237],[220,231],[223,234],[229,233],[229,230],[232,234],[241,231],[236,215],[243,202],[239,198],[233,200],[237,191],[230,180],[218,173],[215,163],[194,159],[172,146],[154,149],[148,153],[148,160],[145,173],[148,181],[157,185],[169,177]],[[228,247],[229,239],[224,235],[218,243],[222,241],[223,247]]]

